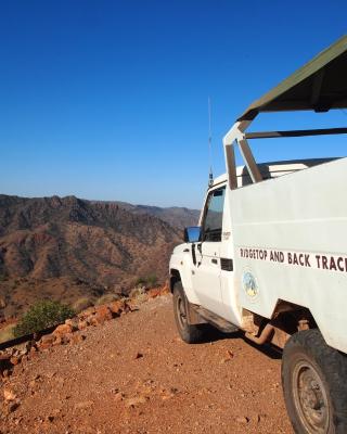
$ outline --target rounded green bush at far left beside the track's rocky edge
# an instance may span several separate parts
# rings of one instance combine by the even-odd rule
[[[75,311],[70,307],[59,302],[38,302],[23,315],[13,330],[13,334],[18,337],[39,332],[49,327],[57,326],[65,319],[74,317],[74,315]]]

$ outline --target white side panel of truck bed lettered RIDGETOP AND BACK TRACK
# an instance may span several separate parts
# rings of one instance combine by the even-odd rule
[[[347,272],[241,257],[240,248],[347,256],[347,159],[230,192],[235,279],[249,271],[258,294],[242,307],[270,318],[278,299],[308,307],[326,342],[347,352]]]

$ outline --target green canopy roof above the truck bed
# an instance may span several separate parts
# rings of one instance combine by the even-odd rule
[[[347,36],[342,37],[255,101],[237,120],[252,120],[260,112],[347,107]]]

